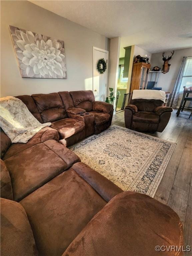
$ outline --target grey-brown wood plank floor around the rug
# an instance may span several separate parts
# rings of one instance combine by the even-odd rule
[[[192,250],[192,119],[183,111],[174,110],[162,133],[149,133],[177,145],[155,194],[155,199],[169,205],[180,217],[184,228],[184,244]],[[112,125],[125,127],[124,111],[113,116]],[[185,254],[192,255],[192,251]]]

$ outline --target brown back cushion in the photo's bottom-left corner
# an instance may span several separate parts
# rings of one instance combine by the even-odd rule
[[[19,203],[1,198],[1,256],[37,256],[27,215]]]

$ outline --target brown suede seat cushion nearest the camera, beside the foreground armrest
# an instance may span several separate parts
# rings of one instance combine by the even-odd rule
[[[27,212],[38,251],[46,256],[62,255],[106,205],[106,201],[73,167],[20,203]]]

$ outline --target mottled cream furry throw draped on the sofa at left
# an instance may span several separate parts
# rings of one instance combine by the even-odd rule
[[[26,143],[43,127],[51,125],[41,124],[18,98],[4,97],[0,103],[1,128],[12,143]]]

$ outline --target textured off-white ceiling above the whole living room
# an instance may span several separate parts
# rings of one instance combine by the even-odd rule
[[[108,38],[123,47],[150,53],[192,46],[192,1],[30,1]]]

